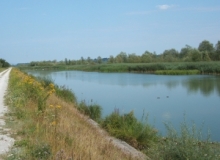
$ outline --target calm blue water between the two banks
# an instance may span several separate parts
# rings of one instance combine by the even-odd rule
[[[81,71],[29,73],[50,77],[56,84],[71,88],[78,102],[101,105],[103,116],[115,109],[120,113],[133,110],[141,120],[144,113],[162,135],[166,133],[164,122],[170,122],[178,130],[185,117],[189,125],[195,123],[204,135],[209,130],[212,140],[220,142],[220,76]]]

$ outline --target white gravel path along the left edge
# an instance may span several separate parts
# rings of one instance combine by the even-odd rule
[[[11,68],[0,73],[0,155],[6,153],[13,145],[14,139],[7,134],[8,130],[4,127],[4,113],[7,107],[4,105],[4,95],[8,86],[8,79]]]

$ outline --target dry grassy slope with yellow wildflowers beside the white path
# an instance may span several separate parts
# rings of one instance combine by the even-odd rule
[[[40,84],[31,86],[35,83],[40,82],[12,69],[7,124],[13,128],[16,142],[5,159],[130,159],[88,124],[74,103],[65,102],[43,84],[43,89],[38,89]],[[51,93],[44,109],[38,106],[40,91]]]

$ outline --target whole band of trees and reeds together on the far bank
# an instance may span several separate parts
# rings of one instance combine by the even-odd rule
[[[164,74],[198,74],[186,70],[198,70],[200,74],[220,74],[220,41],[215,47],[209,41],[202,41],[198,48],[186,45],[178,52],[165,50],[161,54],[145,51],[142,55],[120,52],[109,58],[95,59],[81,57],[80,60],[40,61],[19,65],[21,69],[80,70],[97,72],[144,72]],[[158,71],[161,70],[161,71]],[[175,70],[175,71],[162,71]],[[179,71],[177,71],[179,70]],[[181,70],[181,71],[180,71]],[[182,71],[184,70],[184,71]]]

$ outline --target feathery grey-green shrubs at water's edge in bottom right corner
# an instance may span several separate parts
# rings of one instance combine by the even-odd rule
[[[160,139],[157,148],[150,149],[148,154],[158,160],[219,160],[220,145],[210,141],[208,135],[202,137],[201,130],[195,125],[189,126],[186,121],[177,132],[172,125],[165,124],[167,136]]]

